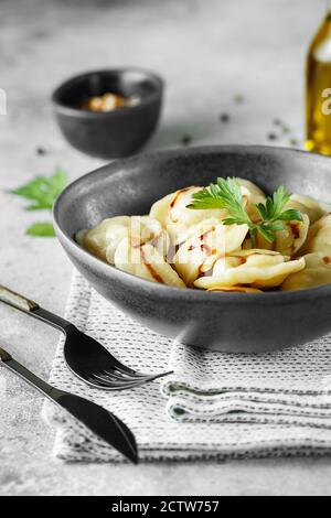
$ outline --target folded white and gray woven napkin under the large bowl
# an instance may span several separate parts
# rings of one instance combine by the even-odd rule
[[[107,392],[66,367],[61,338],[50,381],[119,417],[136,434],[142,461],[321,455],[331,449],[331,345],[323,337],[266,355],[228,355],[173,343],[142,327],[75,272],[65,316],[126,365],[161,381]],[[108,444],[46,401],[64,461],[125,462]]]

